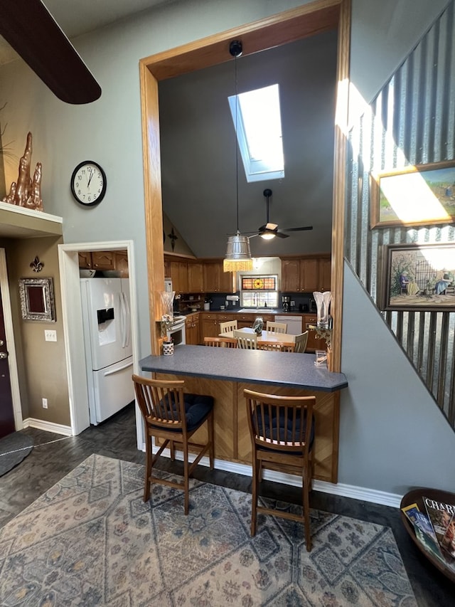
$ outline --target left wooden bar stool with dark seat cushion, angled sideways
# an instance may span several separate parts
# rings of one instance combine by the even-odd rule
[[[164,381],[147,379],[139,375],[132,376],[137,403],[144,420],[146,437],[146,466],[144,502],[150,497],[153,482],[161,485],[183,489],[185,493],[185,514],[189,510],[189,477],[208,453],[210,470],[213,470],[215,450],[213,446],[213,396],[185,394],[184,381]],[[207,422],[208,441],[205,445],[191,443],[193,434]],[[163,440],[158,452],[154,455],[152,438]],[[176,482],[154,476],[153,469],[161,453],[169,445],[171,460],[175,459],[176,445],[183,450],[183,482]],[[188,452],[196,450],[197,457],[193,463],[188,461]]]

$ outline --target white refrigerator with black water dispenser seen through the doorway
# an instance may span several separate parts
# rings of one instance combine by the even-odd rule
[[[129,280],[81,278],[90,423],[134,401]]]

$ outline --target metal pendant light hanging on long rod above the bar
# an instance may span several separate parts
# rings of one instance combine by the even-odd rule
[[[226,256],[223,261],[224,272],[237,272],[238,270],[252,270],[253,260],[250,252],[250,238],[242,236],[239,230],[239,159],[237,151],[237,57],[242,54],[242,43],[233,40],[229,45],[229,52],[235,61],[235,181],[237,184],[237,233],[228,237]]]

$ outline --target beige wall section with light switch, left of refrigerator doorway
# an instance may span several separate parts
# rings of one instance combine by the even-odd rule
[[[0,246],[6,249],[23,418],[70,426],[57,248],[62,242],[62,238],[54,237],[7,239],[0,240]],[[44,263],[40,273],[30,267],[37,255]],[[53,279],[56,322],[22,320],[19,278]],[[55,329],[57,342],[45,342],[45,329]],[[47,409],[42,398],[48,399]]]

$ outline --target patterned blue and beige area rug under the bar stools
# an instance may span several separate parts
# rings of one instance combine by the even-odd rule
[[[182,492],[144,504],[143,483],[90,455],[0,529],[1,606],[417,607],[388,527],[313,510],[308,554],[286,519],[250,537],[250,494],[193,480],[186,517]]]

